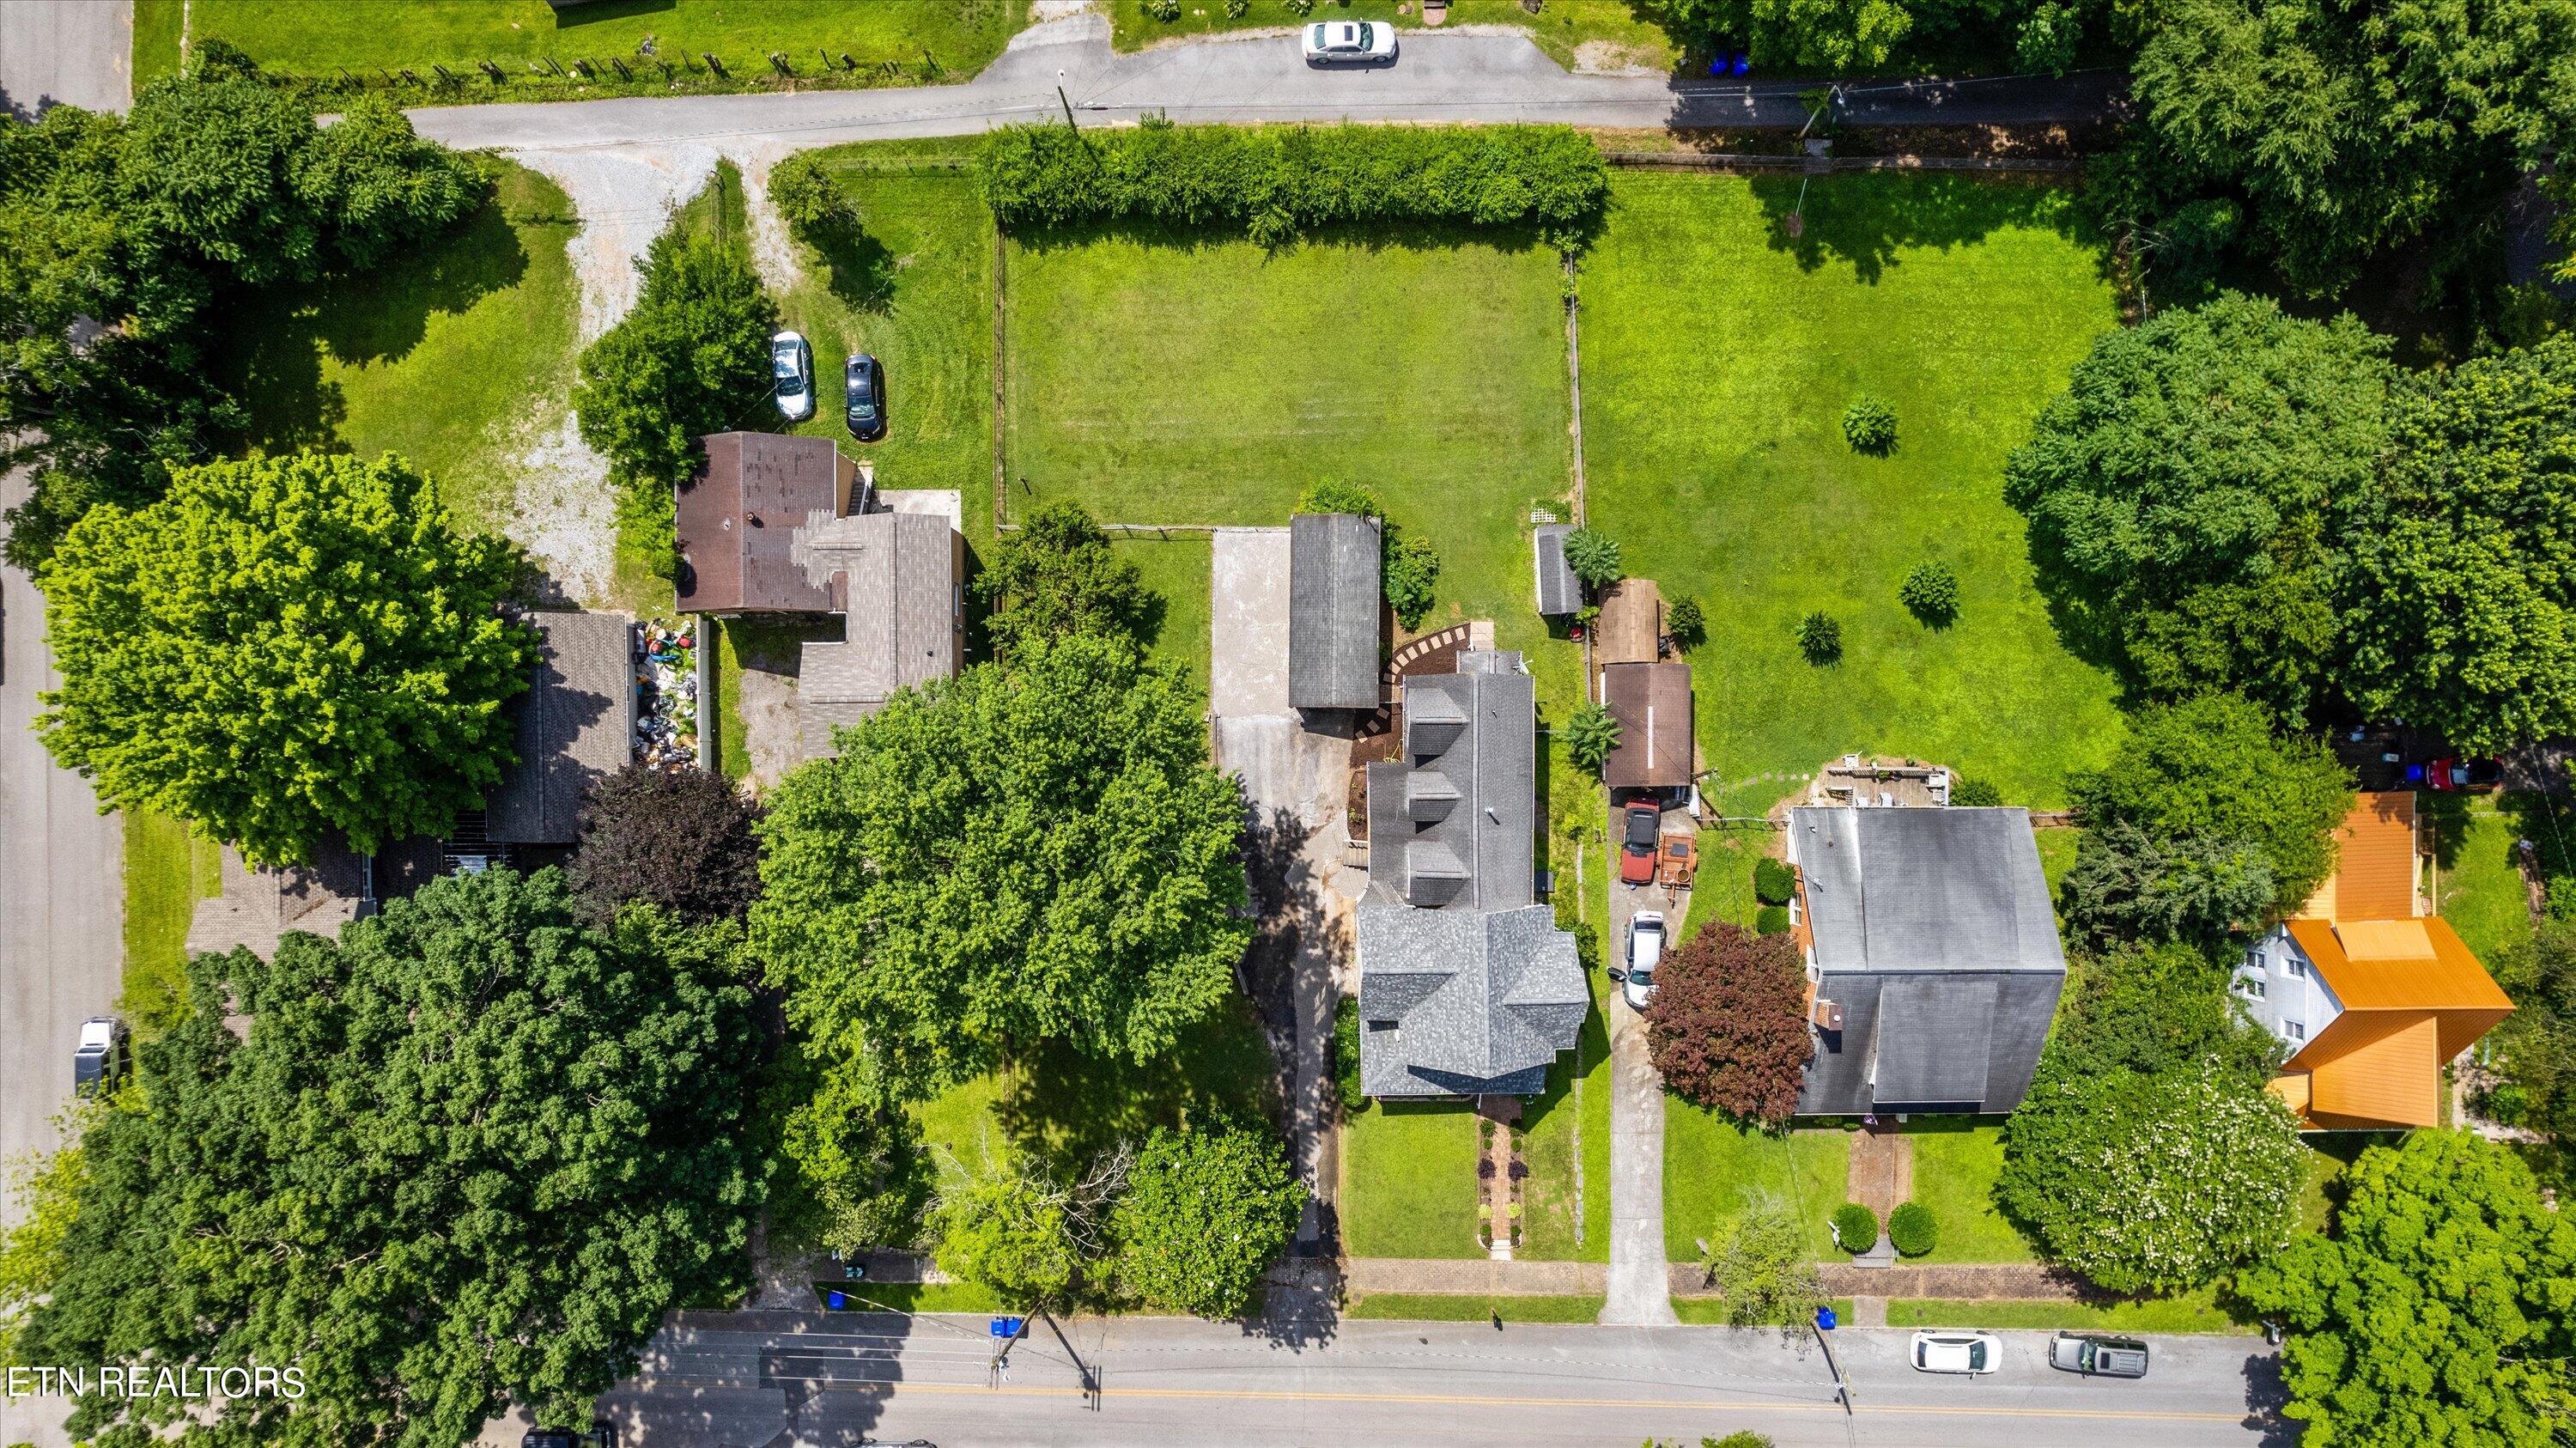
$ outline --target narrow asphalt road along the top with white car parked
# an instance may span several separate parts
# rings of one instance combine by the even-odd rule
[[[1064,90],[1064,100],[1056,90]],[[1064,116],[1082,124],[1167,113],[1175,121],[1566,121],[1582,126],[1798,126],[1814,82],[1677,82],[1571,75],[1517,33],[1406,33],[1391,67],[1316,70],[1296,39],[1211,39],[1113,54],[1108,21],[1074,15],[1023,31],[966,85],[675,95],[412,111],[420,134],[456,147],[577,149],[696,142],[822,147],[974,134]],[[1860,126],[2084,121],[2125,93],[2117,75],[1873,82],[1847,90]]]

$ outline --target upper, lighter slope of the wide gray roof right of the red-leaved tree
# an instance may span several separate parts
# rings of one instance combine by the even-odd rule
[[[2066,974],[2027,809],[1790,809],[1826,971]]]

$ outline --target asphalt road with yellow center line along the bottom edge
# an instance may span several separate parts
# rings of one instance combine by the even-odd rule
[[[636,1384],[603,1399],[636,1448],[940,1445],[1476,1445],[1698,1440],[1739,1427],[1783,1445],[2081,1443],[2195,1448],[2287,1440],[2249,1415],[2272,1389],[2251,1340],[2161,1337],[2143,1381],[2043,1363],[1932,1378],[1906,1332],[1837,1332],[1852,1412],[1816,1337],[1726,1327],[1340,1322],[1303,1335],[1188,1319],[1038,1322],[1010,1381],[984,1319],[683,1314]],[[484,1443],[515,1443],[500,1425]]]

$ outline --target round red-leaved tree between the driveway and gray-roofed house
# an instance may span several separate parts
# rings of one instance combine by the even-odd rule
[[[1788,1121],[1814,1054],[1798,938],[1703,925],[1654,969],[1646,1049],[1685,1100],[1767,1126]]]

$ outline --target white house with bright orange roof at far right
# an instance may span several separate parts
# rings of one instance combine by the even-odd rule
[[[2416,889],[2414,794],[2362,794],[2334,876],[2236,966],[2246,1013],[2290,1051],[2272,1092],[2311,1131],[2442,1121],[2442,1067],[2514,1002]]]

